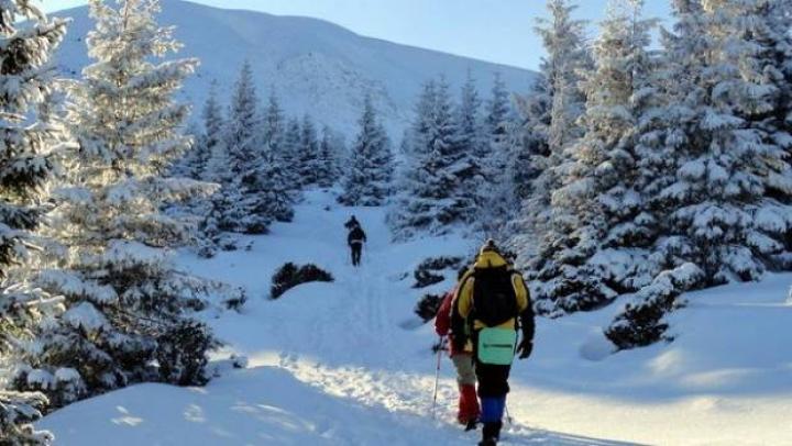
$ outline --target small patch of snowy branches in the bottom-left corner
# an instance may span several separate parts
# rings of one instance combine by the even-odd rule
[[[46,397],[41,393],[0,391],[0,445],[51,445],[53,435],[33,427],[33,423],[41,419],[41,411],[47,404]]]

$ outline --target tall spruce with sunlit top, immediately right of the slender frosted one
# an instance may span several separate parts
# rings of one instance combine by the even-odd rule
[[[544,311],[598,308],[651,282],[660,271],[648,257],[654,219],[640,193],[639,123],[653,111],[656,58],[647,49],[653,21],[642,0],[612,0],[594,43],[595,69],[584,74],[586,96],[573,146],[574,164],[552,197],[556,221],[536,263],[535,299]]]

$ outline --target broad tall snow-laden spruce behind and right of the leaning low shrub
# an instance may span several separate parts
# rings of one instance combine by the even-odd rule
[[[766,2],[738,3],[703,2],[701,16],[680,16],[683,32],[701,34],[669,40],[667,81],[675,94],[666,145],[676,166],[674,182],[660,192],[672,234],[661,248],[696,264],[707,285],[761,277],[768,256],[782,250],[790,215],[765,200],[769,175],[789,171],[790,142],[785,129],[768,129],[761,120],[780,98],[776,76],[760,59],[770,49],[760,45],[767,20],[757,15]],[[681,59],[693,54],[705,55],[697,66]],[[689,75],[693,82],[678,81]],[[781,227],[767,225],[777,222]]]

